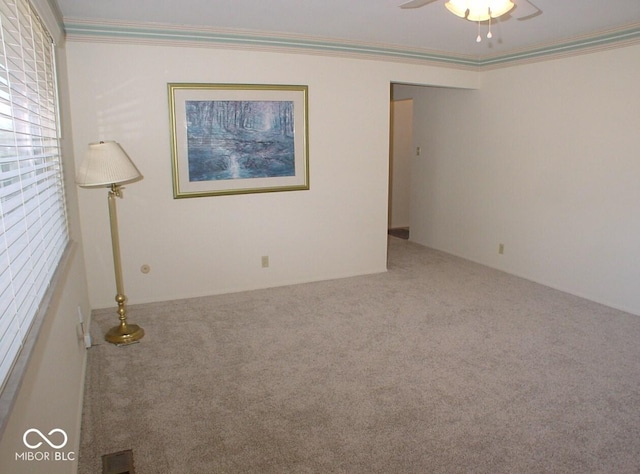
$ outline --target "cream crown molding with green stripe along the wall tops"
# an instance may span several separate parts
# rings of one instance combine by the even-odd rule
[[[67,41],[224,47],[410,62],[461,69],[485,70],[640,43],[640,23],[564,41],[470,57],[380,43],[364,43],[285,33],[238,29],[208,29],[158,23],[132,23],[65,18]]]

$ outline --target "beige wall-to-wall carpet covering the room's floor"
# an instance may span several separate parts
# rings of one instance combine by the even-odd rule
[[[81,473],[640,472],[640,317],[411,242],[130,318],[140,344],[89,351]]]

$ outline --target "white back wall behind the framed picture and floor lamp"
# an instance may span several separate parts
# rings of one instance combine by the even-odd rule
[[[76,154],[114,139],[145,175],[118,201],[131,303],[384,271],[390,83],[477,85],[468,71],[316,55],[71,41],[68,49]],[[308,85],[311,189],[174,200],[168,82]],[[91,304],[110,307],[106,190],[79,194]]]

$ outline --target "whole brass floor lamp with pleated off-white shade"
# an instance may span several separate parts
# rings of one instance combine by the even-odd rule
[[[118,237],[118,218],[116,198],[122,198],[124,183],[142,179],[142,174],[131,158],[115,141],[90,143],[89,149],[76,175],[76,183],[83,188],[109,188],[109,221],[111,223],[111,245],[113,246],[113,266],[116,274],[116,302],[120,324],[111,328],[105,339],[112,344],[131,344],[144,336],[144,330],[137,324],[127,323],[127,310],[122,283],[122,264],[120,263],[120,240]]]

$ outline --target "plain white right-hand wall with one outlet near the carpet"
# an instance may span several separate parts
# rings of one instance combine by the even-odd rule
[[[640,314],[640,46],[414,98],[412,239]],[[503,243],[504,255],[498,254]]]

